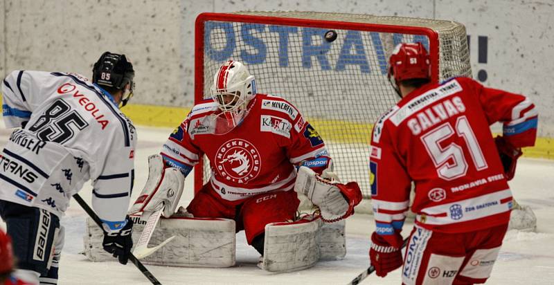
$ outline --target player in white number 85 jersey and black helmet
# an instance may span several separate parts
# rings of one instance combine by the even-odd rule
[[[26,282],[57,284],[60,218],[89,180],[104,249],[127,263],[136,131],[119,107],[132,97],[133,77],[125,55],[106,52],[92,82],[44,71],[13,71],[3,80],[3,120],[18,129],[0,156],[0,217],[19,261],[15,275]]]

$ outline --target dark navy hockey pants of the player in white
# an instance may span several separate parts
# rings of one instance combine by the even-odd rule
[[[57,284],[64,228],[60,219],[43,209],[0,200],[0,217],[12,237],[17,268],[40,274],[40,284]],[[16,272],[17,275],[17,272]]]

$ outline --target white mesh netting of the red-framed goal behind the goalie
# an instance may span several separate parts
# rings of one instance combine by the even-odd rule
[[[389,84],[387,59],[400,42],[422,42],[429,50],[438,34],[438,79],[471,76],[465,27],[453,21],[377,17],[319,12],[238,12],[240,15],[312,19],[307,26],[241,21],[204,22],[204,98],[213,75],[228,59],[243,62],[256,76],[258,93],[279,95],[292,102],[319,132],[341,181],[357,181],[369,196],[369,143],[373,122],[398,100]],[[330,21],[357,23],[348,29]],[[271,23],[271,24],[269,24]],[[276,24],[277,23],[277,24]],[[386,26],[387,31],[379,25]],[[325,28],[319,28],[325,26]],[[422,27],[405,33],[406,27]],[[391,28],[392,27],[392,28]],[[325,33],[334,30],[332,42]],[[197,69],[198,71],[198,69]],[[198,88],[199,86],[197,86]],[[197,98],[199,99],[199,98]],[[204,181],[210,170],[204,159]]]

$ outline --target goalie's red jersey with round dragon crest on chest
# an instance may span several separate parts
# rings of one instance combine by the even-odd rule
[[[247,108],[240,125],[216,134],[217,102],[195,105],[163,145],[161,155],[168,165],[187,174],[206,154],[212,170],[209,183],[227,201],[292,190],[295,165],[328,155],[319,134],[287,100],[256,94]]]

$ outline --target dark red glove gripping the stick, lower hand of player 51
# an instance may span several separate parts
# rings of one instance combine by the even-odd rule
[[[402,237],[400,237],[400,246],[391,246],[383,237],[373,232],[371,235],[371,248],[369,249],[369,260],[375,268],[375,273],[379,277],[385,277],[387,273],[402,266]]]

